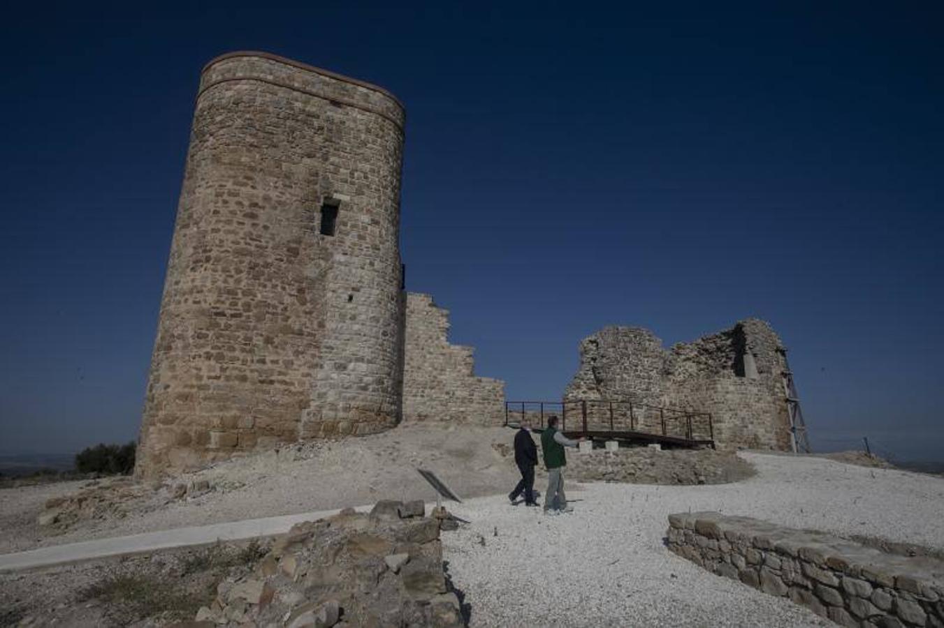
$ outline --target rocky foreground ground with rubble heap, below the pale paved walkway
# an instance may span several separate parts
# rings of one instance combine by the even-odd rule
[[[381,501],[265,544],[4,575],[0,625],[464,626],[435,514]]]

